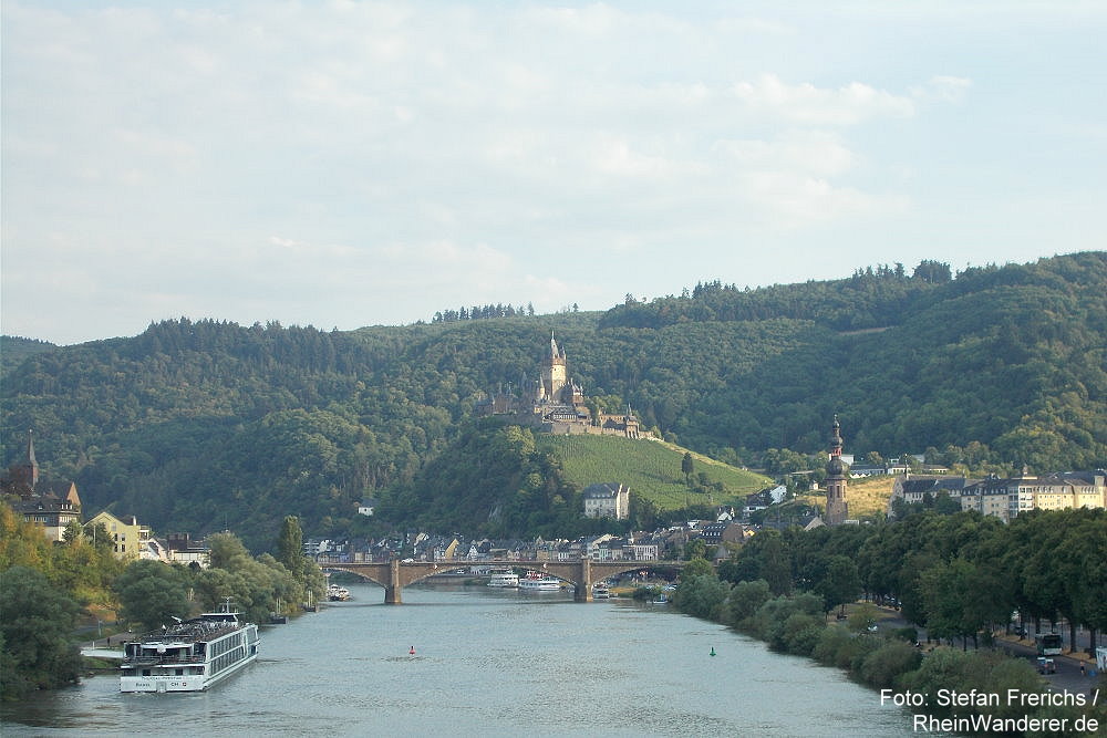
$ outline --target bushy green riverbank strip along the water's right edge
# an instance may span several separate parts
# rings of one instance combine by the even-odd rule
[[[975,725],[972,720],[1016,720],[1002,724],[1008,727],[1056,720],[1045,730],[1015,729],[1011,735],[1082,736],[1107,725],[1107,706],[1096,700],[1096,689],[1107,687],[1103,677],[1079,692],[1052,690],[1026,658],[994,649],[963,652],[942,645],[927,649],[909,637],[913,628],[881,633],[879,624],[873,627],[869,615],[876,610],[868,604],[844,622],[830,622],[818,595],[774,597],[763,580],[732,588],[714,574],[682,581],[673,603],[686,614],[764,641],[778,653],[836,666],[851,680],[877,690],[882,704],[887,700],[921,719],[937,720],[943,731],[973,732],[964,729]],[[862,611],[866,614],[859,615]]]

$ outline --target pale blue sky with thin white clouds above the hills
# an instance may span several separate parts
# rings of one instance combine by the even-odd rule
[[[1107,248],[1107,3],[2,3],[0,332]]]

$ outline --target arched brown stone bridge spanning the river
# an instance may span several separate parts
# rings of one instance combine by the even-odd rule
[[[385,604],[399,605],[403,602],[403,589],[420,580],[436,574],[448,574],[458,569],[473,565],[489,565],[496,568],[528,569],[542,572],[568,582],[577,588],[573,600],[577,602],[592,601],[592,583],[599,580],[642,569],[680,571],[684,563],[680,561],[592,561],[578,559],[575,561],[410,561],[399,559],[385,563],[324,563],[324,569],[346,571],[384,588]]]

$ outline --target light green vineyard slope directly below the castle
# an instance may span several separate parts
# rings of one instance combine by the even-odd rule
[[[745,496],[764,489],[768,477],[737,469],[693,454],[693,476],[706,476],[706,489],[690,492],[681,474],[685,450],[653,440],[618,436],[537,436],[539,449],[552,450],[561,459],[566,479],[583,489],[596,482],[627,485],[658,510],[675,510],[692,503],[745,503]]]

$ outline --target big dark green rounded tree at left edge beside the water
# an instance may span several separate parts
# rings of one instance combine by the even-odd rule
[[[19,698],[77,680],[81,656],[71,642],[77,604],[39,571],[0,573],[3,696]]]

